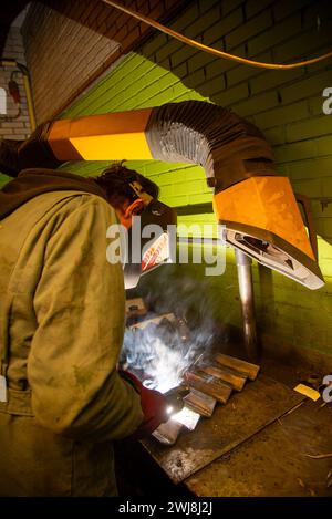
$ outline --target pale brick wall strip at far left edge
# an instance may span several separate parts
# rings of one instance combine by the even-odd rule
[[[3,50],[3,58],[15,60],[23,65],[25,64],[23,41],[19,27],[10,29]],[[19,102],[15,102],[10,94],[8,83],[11,79],[18,84],[20,101],[17,101]],[[0,138],[24,139],[30,135],[31,128],[23,74],[15,66],[0,66],[0,87],[6,92],[6,101],[3,101],[6,113],[0,113]],[[3,91],[1,95],[3,95]]]

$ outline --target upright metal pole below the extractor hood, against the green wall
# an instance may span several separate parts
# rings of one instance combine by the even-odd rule
[[[239,292],[243,318],[245,345],[248,357],[252,361],[258,357],[255,299],[251,272],[251,258],[236,249],[236,266],[238,270]]]

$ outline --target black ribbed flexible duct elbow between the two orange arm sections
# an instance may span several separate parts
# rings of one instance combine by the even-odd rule
[[[252,175],[274,174],[262,133],[210,103],[184,101],[153,108],[145,135],[153,158],[203,166],[216,191]]]

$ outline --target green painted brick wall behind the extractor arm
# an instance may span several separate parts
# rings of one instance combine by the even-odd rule
[[[170,24],[218,49],[261,61],[301,61],[331,46],[329,0],[195,0]],[[279,172],[295,191],[312,200],[319,232],[319,262],[326,284],[310,291],[253,264],[259,328],[280,343],[332,354],[332,115],[322,113],[322,91],[332,86],[331,60],[290,70],[267,71],[217,59],[165,34],[155,33],[142,48],[106,72],[62,116],[76,117],[203,100],[228,106],[257,124],[273,146]],[[77,163],[68,169],[94,175],[105,163]],[[200,167],[156,160],[129,162],[162,188],[162,200],[175,207],[211,201]],[[0,177],[0,181],[6,178]],[[181,217],[181,222],[212,222],[211,214]],[[204,267],[180,266],[170,272],[172,291],[181,294],[197,279],[210,311],[241,325],[234,253],[226,273],[204,276]],[[165,274],[153,287],[164,293]],[[151,281],[143,281],[145,290]]]

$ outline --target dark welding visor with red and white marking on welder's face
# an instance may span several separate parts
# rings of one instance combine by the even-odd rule
[[[156,199],[133,217],[124,263],[125,289],[135,288],[141,276],[169,261],[176,221],[176,211]]]

